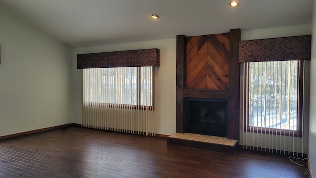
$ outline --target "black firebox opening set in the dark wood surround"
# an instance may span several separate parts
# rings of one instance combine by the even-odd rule
[[[228,136],[227,99],[187,98],[186,132]]]

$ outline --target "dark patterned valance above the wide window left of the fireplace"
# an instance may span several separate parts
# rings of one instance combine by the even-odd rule
[[[77,68],[159,66],[159,49],[139,49],[77,55]]]

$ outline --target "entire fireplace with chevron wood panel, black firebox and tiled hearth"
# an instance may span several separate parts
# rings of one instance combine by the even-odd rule
[[[176,133],[168,137],[167,144],[235,153],[239,140],[239,41],[240,29],[225,34],[177,35]],[[212,142],[211,135],[236,142]]]

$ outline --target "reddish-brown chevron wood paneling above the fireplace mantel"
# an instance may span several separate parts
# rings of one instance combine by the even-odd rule
[[[187,38],[186,89],[229,89],[229,33]]]

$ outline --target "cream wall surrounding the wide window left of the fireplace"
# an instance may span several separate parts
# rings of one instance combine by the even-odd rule
[[[75,114],[74,122],[81,123],[81,70],[77,69],[77,54],[110,52],[134,49],[160,49],[160,66],[158,69],[158,110],[157,134],[171,135],[176,130],[176,39],[156,40],[139,43],[126,43],[117,45],[98,45],[77,47],[73,49],[73,74],[75,90],[73,92]],[[155,91],[157,92],[157,91]],[[167,127],[167,122],[170,127]]]

